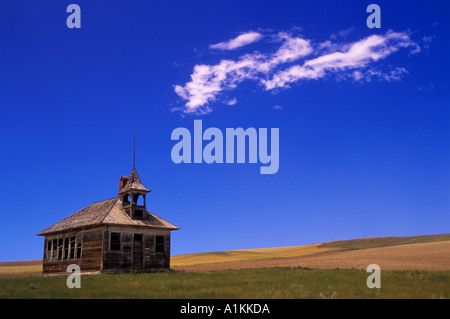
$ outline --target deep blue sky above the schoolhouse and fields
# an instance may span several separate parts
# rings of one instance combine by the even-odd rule
[[[449,5],[372,2],[2,1],[0,261],[116,196],[133,134],[172,254],[448,233]],[[173,163],[195,119],[279,128],[279,171]]]

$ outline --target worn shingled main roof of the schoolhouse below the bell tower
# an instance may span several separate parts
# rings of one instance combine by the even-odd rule
[[[180,229],[178,226],[175,226],[148,211],[146,211],[144,219],[132,219],[122,208],[122,200],[120,197],[115,197],[93,203],[53,226],[44,229],[37,233],[37,235],[45,236],[52,233],[99,225],[141,226],[167,230]]]

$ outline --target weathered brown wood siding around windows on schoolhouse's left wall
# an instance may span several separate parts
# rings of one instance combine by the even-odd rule
[[[70,237],[81,235],[81,258],[64,259],[58,261],[47,260],[47,242],[54,238]],[[67,266],[77,264],[81,272],[101,271],[102,269],[102,249],[103,249],[103,229],[85,230],[79,232],[66,232],[59,235],[45,237],[44,241],[43,273],[66,272]]]

